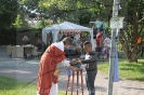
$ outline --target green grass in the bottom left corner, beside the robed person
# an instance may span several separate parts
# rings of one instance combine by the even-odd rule
[[[36,84],[27,83],[0,76],[0,95],[36,95]],[[65,92],[60,91],[58,95],[64,95]]]

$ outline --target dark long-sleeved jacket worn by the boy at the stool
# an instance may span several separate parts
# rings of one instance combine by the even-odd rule
[[[89,54],[86,54],[86,56],[89,56],[88,59],[81,59],[82,64],[87,64],[86,70],[87,71],[97,71],[97,64],[96,64],[96,53],[92,51]]]

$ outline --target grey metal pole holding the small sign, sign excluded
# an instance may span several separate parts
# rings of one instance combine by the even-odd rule
[[[118,17],[120,0],[114,0],[113,17]],[[112,45],[110,45],[110,57],[109,57],[109,77],[108,77],[108,90],[107,95],[113,95],[113,76],[114,76],[114,63],[115,63],[115,51],[116,51],[116,31],[117,28],[112,29]]]

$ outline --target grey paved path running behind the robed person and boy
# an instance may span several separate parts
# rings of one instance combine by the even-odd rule
[[[0,49],[0,74],[23,80],[26,82],[37,83],[37,73],[39,68],[39,59],[21,59],[9,58],[5,49]],[[65,90],[67,76],[65,69],[62,69],[60,76],[60,90]],[[95,80],[96,95],[107,95],[108,78],[101,72],[97,73]],[[79,94],[81,95],[81,94]],[[84,83],[84,95],[88,95]],[[135,82],[128,80],[120,80],[114,83],[114,95],[144,95],[144,82]]]

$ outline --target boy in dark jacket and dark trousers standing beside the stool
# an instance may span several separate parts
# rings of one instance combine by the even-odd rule
[[[87,53],[84,59],[78,59],[76,63],[86,64],[86,81],[89,95],[95,95],[94,81],[97,73],[96,53],[92,51],[92,43],[89,41],[83,43],[83,49]]]

